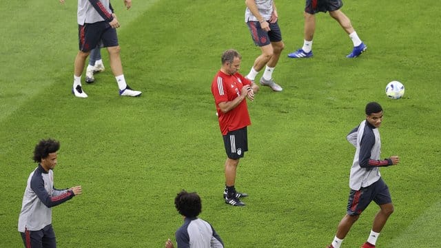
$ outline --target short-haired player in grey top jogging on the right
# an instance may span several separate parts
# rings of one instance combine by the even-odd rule
[[[349,176],[349,200],[347,214],[338,225],[337,234],[328,248],[340,248],[343,239],[358,220],[362,211],[372,201],[380,206],[380,211],[373,220],[371,234],[362,248],[373,248],[376,245],[380,231],[393,212],[393,204],[389,188],[380,176],[380,167],[396,165],[400,162],[398,156],[380,159],[381,140],[378,128],[382,123],[383,111],[380,104],[372,102],[366,105],[366,120],[354,128],[347,140],[354,147],[351,174]]]

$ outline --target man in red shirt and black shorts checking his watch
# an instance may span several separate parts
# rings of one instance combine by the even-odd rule
[[[212,94],[216,103],[220,132],[223,135],[227,161],[225,161],[225,203],[245,206],[239,198],[248,196],[236,192],[234,182],[239,159],[248,150],[247,126],[251,125],[247,101],[254,100],[258,86],[238,73],[242,56],[233,49],[222,54],[222,67],[214,76]],[[245,101],[244,101],[245,100]]]

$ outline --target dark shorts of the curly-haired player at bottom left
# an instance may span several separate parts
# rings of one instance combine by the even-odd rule
[[[31,247],[47,247],[55,248],[57,247],[57,240],[55,239],[55,232],[52,225],[47,225],[39,231],[29,231],[21,232],[21,238],[25,244],[25,248]]]

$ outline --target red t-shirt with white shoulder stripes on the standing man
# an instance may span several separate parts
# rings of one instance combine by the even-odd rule
[[[212,83],[212,94],[218,111],[218,121],[220,132],[226,135],[230,131],[239,130],[240,128],[251,125],[249,119],[247,100],[243,100],[234,109],[223,113],[220,111],[219,103],[233,101],[240,96],[240,90],[243,85],[251,85],[251,81],[245,79],[244,76],[238,74],[228,75],[219,71],[214,76]]]

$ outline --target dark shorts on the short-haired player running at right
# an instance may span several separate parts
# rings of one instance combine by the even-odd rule
[[[389,187],[382,178],[368,187],[362,187],[359,190],[351,189],[347,201],[347,214],[351,216],[360,215],[371,201],[374,201],[377,205],[392,203]]]

